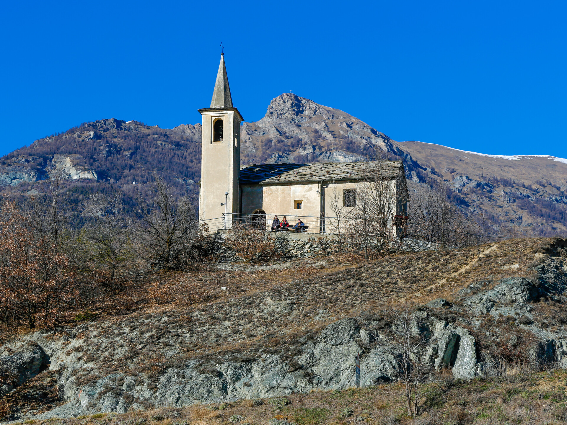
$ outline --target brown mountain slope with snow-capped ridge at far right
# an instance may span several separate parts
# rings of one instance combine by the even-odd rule
[[[514,223],[526,235],[565,234],[567,159],[549,155],[486,155],[422,142],[393,142],[446,182],[471,213]]]

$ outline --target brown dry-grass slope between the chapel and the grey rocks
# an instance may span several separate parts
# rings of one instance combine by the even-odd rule
[[[170,338],[172,331],[183,330],[179,338],[168,342],[180,355],[189,357],[236,350],[285,355],[293,351],[290,344],[298,338],[315,336],[325,325],[344,317],[362,316],[404,298],[412,304],[439,296],[455,300],[460,289],[475,281],[491,285],[503,277],[526,275],[528,267],[542,261],[535,254],[551,252],[552,242],[518,239],[447,252],[397,253],[359,264],[352,263],[352,256],[337,256],[298,260],[284,269],[247,270],[243,264],[240,269],[226,271],[198,266],[189,273],[155,275],[137,291],[125,291],[112,305],[92,306],[95,322],[89,327],[109,338],[117,330],[132,332],[132,322],[136,322],[134,330],[152,338],[164,331],[163,338]],[[479,257],[489,248],[488,254]],[[501,268],[514,264],[519,267]],[[457,274],[463,267],[468,269]],[[175,282],[189,282],[196,288],[194,303],[187,302]],[[221,291],[221,287],[227,290]],[[171,291],[164,294],[163,288]],[[413,295],[409,298],[408,294]],[[537,308],[545,313],[542,321],[564,315],[561,305]],[[164,316],[168,318],[165,329],[160,324]],[[126,341],[124,335],[119,338],[127,346],[135,343]],[[156,357],[155,353],[145,353],[143,358],[136,352],[132,355],[136,363]]]

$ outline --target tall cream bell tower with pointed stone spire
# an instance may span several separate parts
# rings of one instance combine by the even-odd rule
[[[199,219],[221,218],[225,211],[239,213],[240,123],[244,118],[232,107],[224,53],[210,108],[198,111],[203,124]]]

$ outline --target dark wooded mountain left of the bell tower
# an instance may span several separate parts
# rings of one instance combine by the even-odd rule
[[[200,138],[200,124],[160,129],[115,118],[87,122],[0,158],[0,182],[44,180],[55,168],[69,179],[120,186],[147,182],[153,171],[194,180],[200,174]]]

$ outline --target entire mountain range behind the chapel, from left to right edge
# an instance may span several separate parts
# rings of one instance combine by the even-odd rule
[[[498,156],[416,141],[397,142],[338,109],[285,93],[241,129],[241,163],[353,162],[379,147],[403,159],[414,184],[437,180],[467,213],[493,226],[515,224],[524,235],[567,233],[567,160]],[[84,123],[0,158],[5,191],[29,191],[50,170],[97,184],[145,183],[156,171],[194,188],[200,178],[201,125],[173,129],[112,118]],[[23,184],[23,185],[22,185]],[[17,189],[16,189],[17,188]]]

